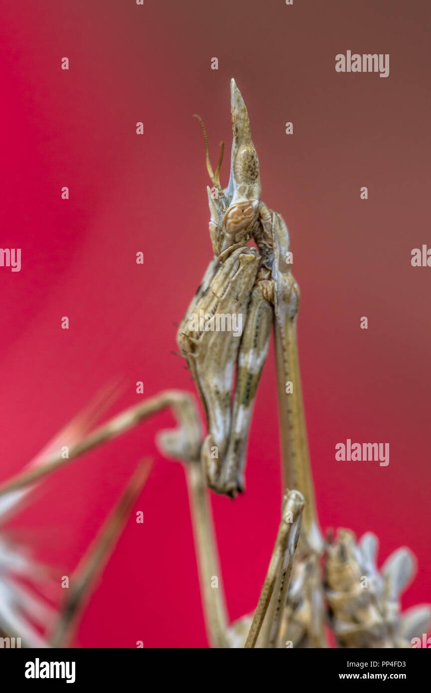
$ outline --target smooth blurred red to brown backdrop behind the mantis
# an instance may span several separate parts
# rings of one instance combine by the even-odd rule
[[[234,76],[263,200],[290,229],[322,527],[376,532],[380,561],[410,545],[419,574],[403,604],[427,601],[431,269],[412,267],[410,254],[431,245],[429,3],[2,6],[0,246],[21,247],[22,269],[0,268],[1,480],[117,376],[125,392],[109,415],[141,401],[137,380],[148,396],[194,390],[171,353],[173,323],[211,257],[202,132],[191,114],[204,118],[213,161],[221,139],[229,151]],[[389,78],[336,73],[335,55],[347,50],[389,53]],[[60,69],[65,56],[69,71]],[[226,161],[225,185],[227,177]],[[232,619],[256,604],[279,521],[275,393],[271,349],[247,493],[213,498]],[[137,460],[155,457],[134,509],[144,524],[132,515],[78,647],[206,644],[184,472],[154,444],[172,423],[162,414],[74,462],[15,523],[37,556],[70,571]],[[335,444],[347,438],[389,442],[389,466],[335,462]]]

